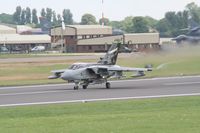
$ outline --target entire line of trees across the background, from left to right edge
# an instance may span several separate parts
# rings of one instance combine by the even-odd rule
[[[16,11],[12,14],[0,14],[0,22],[9,24],[31,24],[33,27],[40,27],[39,17],[36,9],[29,7],[16,7]],[[40,17],[47,19],[52,26],[61,25],[62,20],[66,25],[81,24],[93,25],[102,24],[112,26],[115,29],[121,29],[125,33],[145,33],[159,32],[161,37],[174,37],[179,34],[186,33],[184,29],[188,27],[188,19],[193,19],[200,24],[200,7],[194,2],[186,5],[183,11],[165,13],[164,18],[156,20],[150,16],[128,16],[122,21],[110,21],[108,18],[96,20],[92,14],[84,14],[81,22],[73,20],[73,14],[70,9],[64,9],[62,14],[57,14],[51,8],[42,8]]]

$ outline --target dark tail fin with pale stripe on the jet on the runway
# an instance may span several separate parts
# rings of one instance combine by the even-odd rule
[[[126,52],[131,51],[129,48],[124,47],[121,43],[112,44],[106,55],[103,58],[100,58],[100,61],[98,61],[98,63],[104,65],[115,65],[117,62],[118,53],[121,50],[124,50]]]

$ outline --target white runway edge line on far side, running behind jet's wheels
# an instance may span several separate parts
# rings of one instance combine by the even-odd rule
[[[150,79],[132,79],[132,80],[116,80],[116,81],[110,81],[112,82],[140,82],[140,81],[152,81],[152,80],[167,80],[167,79],[186,79],[186,78],[200,78],[200,75],[198,76],[181,76],[181,77],[160,77],[160,78],[150,78]],[[47,85],[32,85],[32,86],[13,86],[13,87],[0,87],[0,90],[5,89],[22,89],[22,88],[37,88],[37,87],[56,87],[56,86],[67,86],[67,85],[73,85],[73,83],[67,83],[67,84],[47,84]]]

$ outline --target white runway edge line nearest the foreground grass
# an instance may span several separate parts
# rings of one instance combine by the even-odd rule
[[[96,101],[148,99],[148,98],[165,98],[165,97],[199,96],[199,95],[200,95],[200,93],[190,93],[190,94],[155,95],[155,96],[138,96],[138,97],[121,97],[121,98],[84,99],[84,100],[71,100],[71,101],[52,101],[52,102],[36,102],[36,103],[2,104],[2,105],[0,105],[0,107],[44,105],[44,104],[61,104],[61,103],[78,103],[78,102],[86,103],[86,102],[96,102]]]

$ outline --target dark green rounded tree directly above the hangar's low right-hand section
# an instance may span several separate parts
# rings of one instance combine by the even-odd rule
[[[146,33],[149,32],[149,27],[147,26],[147,21],[143,17],[133,18],[133,32],[134,33]]]

